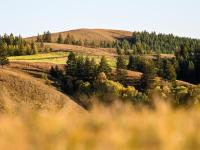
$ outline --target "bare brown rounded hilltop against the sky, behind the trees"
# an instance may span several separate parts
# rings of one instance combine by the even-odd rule
[[[119,39],[130,38],[132,32],[111,29],[77,29],[52,34],[53,42],[57,41],[58,35],[61,34],[64,38],[70,34],[76,40],[87,40],[89,42],[95,41],[116,41]],[[27,40],[36,40],[36,37],[29,37]]]

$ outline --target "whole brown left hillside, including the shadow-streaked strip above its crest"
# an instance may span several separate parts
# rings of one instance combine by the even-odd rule
[[[71,98],[51,86],[50,81],[42,77],[52,64],[15,62],[7,68],[0,69],[0,101],[28,103],[33,108],[47,108],[54,105],[62,107],[65,103],[70,107],[78,106]]]

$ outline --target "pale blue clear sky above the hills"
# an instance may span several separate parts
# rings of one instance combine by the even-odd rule
[[[200,38],[200,0],[0,0],[0,34],[109,28]]]

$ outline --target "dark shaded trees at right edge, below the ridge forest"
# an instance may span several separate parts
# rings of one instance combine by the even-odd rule
[[[200,83],[200,47],[191,50],[187,44],[181,45],[180,50],[175,53],[174,58],[149,59],[140,55],[130,55],[128,69],[144,72],[145,66],[152,69],[155,75],[169,81],[176,79],[195,83]]]

